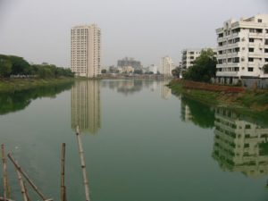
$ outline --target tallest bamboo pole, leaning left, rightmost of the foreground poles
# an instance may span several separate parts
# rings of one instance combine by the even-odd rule
[[[79,151],[80,151],[79,152],[80,153],[80,163],[81,163],[81,168],[82,168],[82,173],[83,173],[83,182],[84,182],[84,187],[85,187],[86,201],[90,201],[86,162],[85,162],[83,146],[82,146],[82,142],[81,142],[81,138],[80,138],[79,126],[76,127],[76,137],[77,137],[77,142],[78,142]]]

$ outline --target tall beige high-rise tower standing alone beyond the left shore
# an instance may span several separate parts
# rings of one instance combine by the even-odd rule
[[[71,28],[71,71],[96,78],[101,74],[101,29],[96,24]]]

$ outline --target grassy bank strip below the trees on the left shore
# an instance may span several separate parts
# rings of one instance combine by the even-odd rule
[[[73,78],[58,79],[2,79],[0,80],[0,93],[21,91],[30,88],[38,88],[45,86],[54,86],[72,82]]]

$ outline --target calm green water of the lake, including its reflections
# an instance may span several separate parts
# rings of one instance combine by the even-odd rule
[[[91,80],[2,94],[0,143],[54,200],[63,142],[68,200],[85,200],[77,124],[91,201],[267,200],[265,121],[173,96],[165,83]],[[22,200],[12,163],[8,170],[13,199]]]

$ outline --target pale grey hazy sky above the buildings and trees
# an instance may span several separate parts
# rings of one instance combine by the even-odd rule
[[[124,56],[144,66],[187,47],[216,46],[230,18],[268,13],[268,0],[0,0],[0,54],[70,66],[71,27],[102,29],[102,65]]]

